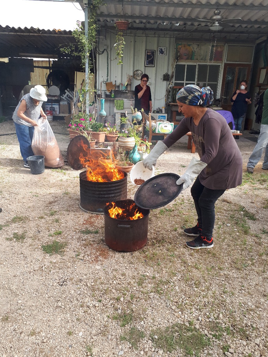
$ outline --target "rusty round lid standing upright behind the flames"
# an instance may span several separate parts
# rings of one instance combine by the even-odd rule
[[[74,170],[81,170],[85,166],[81,164],[80,156],[90,156],[90,144],[88,139],[83,135],[75,136],[67,148],[67,160]]]

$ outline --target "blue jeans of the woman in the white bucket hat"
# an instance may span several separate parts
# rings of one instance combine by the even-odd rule
[[[33,156],[31,144],[34,136],[34,126],[26,126],[15,123],[16,134],[20,143],[20,153],[24,161],[27,161],[27,157]]]

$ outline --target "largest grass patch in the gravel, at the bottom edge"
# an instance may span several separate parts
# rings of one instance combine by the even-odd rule
[[[199,356],[200,352],[209,345],[208,338],[197,328],[180,323],[167,326],[165,329],[152,330],[150,338],[158,349],[171,353],[178,347],[188,356]]]

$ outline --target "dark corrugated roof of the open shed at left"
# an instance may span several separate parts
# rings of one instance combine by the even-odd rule
[[[0,25],[1,57],[18,57],[21,54],[62,56],[60,47],[75,43],[72,31],[44,30],[34,27]]]

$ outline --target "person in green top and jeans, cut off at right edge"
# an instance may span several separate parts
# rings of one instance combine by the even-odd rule
[[[268,89],[263,96],[262,121],[260,124],[260,134],[257,145],[254,147],[252,154],[249,156],[247,163],[247,172],[253,173],[254,167],[258,164],[265,148],[262,169],[268,170]]]

